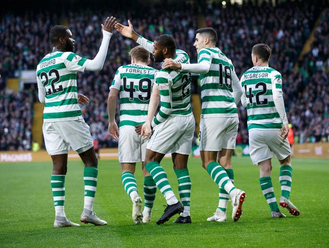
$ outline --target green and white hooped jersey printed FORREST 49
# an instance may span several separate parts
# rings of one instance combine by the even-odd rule
[[[112,85],[120,92],[120,122],[122,126],[136,126],[145,122],[158,70],[141,64],[123,65],[117,69]]]

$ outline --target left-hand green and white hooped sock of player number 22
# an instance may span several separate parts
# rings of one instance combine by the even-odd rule
[[[52,190],[53,205],[56,217],[66,217],[64,212],[65,201],[65,175],[51,175],[50,185]]]

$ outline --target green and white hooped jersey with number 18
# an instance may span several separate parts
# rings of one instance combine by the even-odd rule
[[[202,118],[237,117],[233,83],[240,83],[229,58],[218,47],[203,48],[198,52],[198,63],[207,62],[210,69],[200,74]]]

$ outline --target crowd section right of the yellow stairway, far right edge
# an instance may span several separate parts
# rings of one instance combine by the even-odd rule
[[[288,118],[297,143],[328,141],[329,137],[329,9],[320,16],[315,41],[289,77]],[[293,95],[291,97],[291,95]]]

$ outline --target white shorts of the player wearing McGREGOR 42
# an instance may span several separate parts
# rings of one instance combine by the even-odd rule
[[[254,165],[276,155],[283,160],[291,154],[288,139],[282,139],[280,129],[250,129],[250,158]]]

